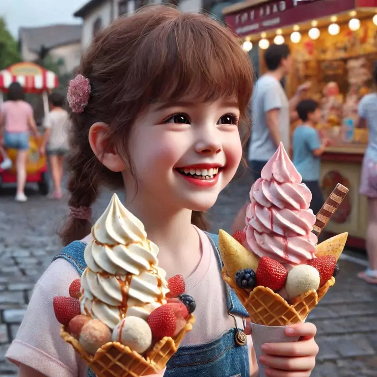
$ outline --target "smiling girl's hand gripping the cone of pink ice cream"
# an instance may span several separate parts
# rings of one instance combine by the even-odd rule
[[[269,377],[308,377],[316,365],[318,345],[314,340],[317,328],[313,323],[297,323],[286,328],[287,336],[300,336],[298,342],[266,343],[259,362],[269,367]]]

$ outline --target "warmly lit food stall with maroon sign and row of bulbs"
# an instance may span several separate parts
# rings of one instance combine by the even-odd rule
[[[224,8],[223,14],[244,50],[258,49],[261,74],[269,44],[290,46],[287,95],[311,81],[307,96],[320,103],[319,131],[334,141],[322,156],[323,194],[327,197],[337,183],[350,188],[326,229],[348,231],[349,245],[364,248],[367,201],[358,188],[368,132],[355,129],[355,121],[358,102],[374,86],[377,0],[248,0]]]

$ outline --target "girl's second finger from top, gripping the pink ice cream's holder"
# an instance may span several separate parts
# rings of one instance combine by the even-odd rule
[[[266,343],[262,346],[263,353],[270,356],[315,356],[318,350],[318,345],[314,339],[291,343]]]

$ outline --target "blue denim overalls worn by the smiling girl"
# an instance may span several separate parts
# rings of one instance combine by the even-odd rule
[[[219,269],[222,261],[218,251],[218,237],[207,233],[218,259]],[[63,258],[82,274],[86,268],[84,249],[86,243],[75,241],[64,247],[54,257]],[[225,284],[225,283],[224,283]],[[247,317],[248,314],[236,294],[225,284],[228,312],[237,316]],[[249,358],[247,344],[237,345],[235,334],[237,329],[226,331],[213,342],[180,346],[167,363],[164,377],[249,377]],[[89,369],[87,377],[95,377]]]

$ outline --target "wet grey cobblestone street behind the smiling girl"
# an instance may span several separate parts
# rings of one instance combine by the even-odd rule
[[[220,196],[210,213],[213,230],[229,230],[248,197],[244,176]],[[49,201],[28,191],[27,203],[15,203],[13,190],[0,191],[0,377],[17,374],[5,351],[21,323],[33,286],[59,251],[56,235],[66,201]],[[105,209],[110,192],[96,203],[95,218]],[[318,327],[320,346],[314,377],[377,376],[377,287],[355,275],[364,267],[351,258],[340,261],[340,274],[309,320]],[[221,377],[221,376],[219,376]]]

